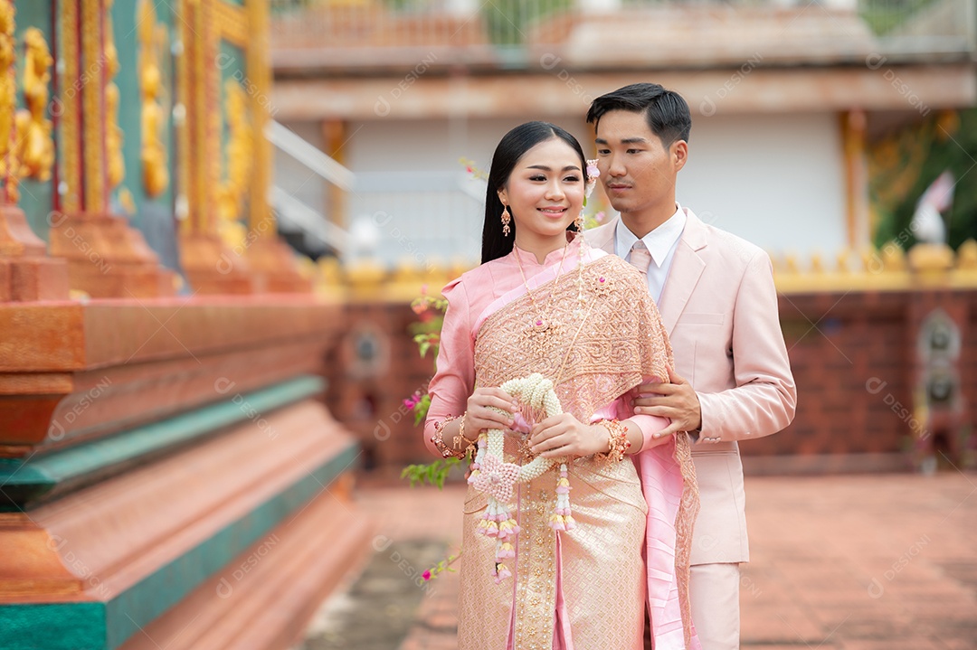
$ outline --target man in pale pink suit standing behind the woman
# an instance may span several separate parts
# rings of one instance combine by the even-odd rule
[[[620,218],[587,232],[594,247],[647,273],[671,339],[671,383],[642,386],[639,413],[689,431],[701,511],[692,545],[692,620],[703,650],[740,645],[740,563],[748,561],[738,442],[783,429],[796,389],[769,257],[675,202],[692,117],[658,84],[594,100],[600,180]]]

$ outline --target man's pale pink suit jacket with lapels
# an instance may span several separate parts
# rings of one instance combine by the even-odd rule
[[[701,498],[692,564],[746,562],[738,443],[789,425],[797,391],[770,258],[684,210],[685,229],[658,310],[671,340],[675,371],[696,389],[701,404],[701,434],[692,452]],[[617,223],[615,219],[588,230],[588,243],[615,253]]]

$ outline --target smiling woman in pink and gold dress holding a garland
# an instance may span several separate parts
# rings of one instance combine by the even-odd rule
[[[530,122],[506,134],[488,175],[483,264],[443,291],[425,440],[441,456],[481,445],[465,503],[459,650],[641,648],[646,602],[657,650],[698,647],[687,597],[698,509],[688,438],[653,441],[667,421],[633,416],[626,395],[667,381],[671,349],[640,273],[576,236],[586,170],[559,127]],[[540,416],[499,387],[533,373],[555,386],[564,413]],[[493,461],[488,481],[480,464],[490,429],[507,434],[505,463]],[[652,504],[625,458],[642,449],[655,467],[643,470]],[[566,460],[567,480],[553,467],[511,484],[511,467],[537,456]],[[511,484],[511,498],[493,481]],[[511,519],[498,515],[502,502]],[[647,578],[646,545],[661,555]]]

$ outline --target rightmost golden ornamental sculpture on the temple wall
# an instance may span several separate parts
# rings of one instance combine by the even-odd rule
[[[240,246],[246,231],[238,221],[251,177],[254,142],[244,89],[234,79],[224,84],[230,137],[225,153],[227,178],[217,189],[218,231],[229,246]],[[261,200],[263,197],[257,197]]]

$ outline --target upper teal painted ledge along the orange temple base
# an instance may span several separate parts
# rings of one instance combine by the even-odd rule
[[[22,509],[64,495],[124,467],[245,421],[261,426],[265,414],[319,394],[319,377],[303,376],[276,386],[195,409],[173,418],[93,440],[64,451],[0,461],[0,511]],[[230,384],[225,394],[234,389]]]

